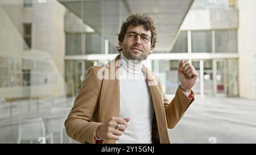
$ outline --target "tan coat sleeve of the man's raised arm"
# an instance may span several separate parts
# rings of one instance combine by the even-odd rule
[[[160,86],[162,89],[162,86]],[[193,94],[193,91],[191,91]],[[166,112],[167,119],[167,127],[174,128],[175,125],[179,122],[179,120],[185,114],[185,111],[188,109],[190,104],[195,100],[194,94],[193,98],[188,98],[182,91],[180,86],[176,90],[176,94],[174,99],[172,99],[171,103],[168,101],[166,94],[163,93],[164,100],[164,109]]]

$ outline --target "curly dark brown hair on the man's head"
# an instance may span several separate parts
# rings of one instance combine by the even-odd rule
[[[151,31],[151,47],[155,48],[155,43],[157,39],[156,28],[154,25],[154,19],[150,18],[148,14],[133,14],[130,15],[125,21],[122,23],[121,30],[118,35],[118,41],[123,42],[125,37],[125,33],[129,26],[141,26],[143,25],[146,31]],[[116,46],[117,51],[121,52],[122,48],[120,48],[119,43]]]

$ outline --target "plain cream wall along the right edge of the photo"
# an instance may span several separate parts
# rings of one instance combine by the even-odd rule
[[[256,1],[238,1],[240,10],[238,29],[238,51],[239,59],[239,81],[240,96],[249,99],[256,99]]]

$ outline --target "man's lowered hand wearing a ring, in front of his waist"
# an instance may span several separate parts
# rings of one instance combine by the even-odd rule
[[[119,136],[123,134],[127,127],[127,122],[130,118],[117,118],[112,117],[108,122],[100,125],[96,129],[96,137],[102,140],[118,140]],[[119,129],[115,129],[115,126],[119,124]]]

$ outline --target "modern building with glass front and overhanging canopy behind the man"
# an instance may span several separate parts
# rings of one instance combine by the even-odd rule
[[[185,59],[200,78],[195,93],[255,99],[254,0],[0,1],[0,98],[75,96],[90,66],[118,52],[129,14],[155,19],[158,43],[145,64],[174,94]],[[251,18],[249,18],[251,16]]]

